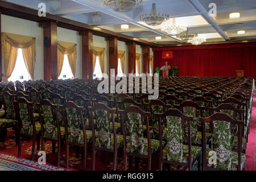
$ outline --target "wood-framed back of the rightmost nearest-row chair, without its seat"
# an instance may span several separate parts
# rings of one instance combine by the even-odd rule
[[[200,118],[200,122],[203,126],[203,170],[209,167],[231,170],[232,164],[232,125],[238,126],[238,170],[241,170],[241,127],[243,125],[242,121],[237,121],[233,119],[228,114],[225,113],[214,113],[208,118]],[[213,151],[216,152],[216,164],[210,165],[208,164],[207,157],[207,139],[206,139],[206,127],[205,123],[213,123]]]

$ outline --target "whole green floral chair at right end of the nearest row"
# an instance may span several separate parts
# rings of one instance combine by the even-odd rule
[[[226,113],[214,113],[208,118],[200,118],[203,127],[203,170],[235,170],[245,169],[246,156],[241,152],[241,128],[243,121],[237,121]],[[213,147],[207,148],[205,123],[212,122]],[[232,125],[238,126],[237,152],[232,151]],[[213,160],[210,159],[213,156]],[[216,157],[216,160],[214,160]]]

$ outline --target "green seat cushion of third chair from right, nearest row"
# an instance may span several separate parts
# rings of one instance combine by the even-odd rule
[[[144,150],[142,155],[148,155],[148,145],[147,145],[147,138],[143,138],[143,143],[144,143]],[[166,144],[166,142],[163,141],[163,146]],[[156,139],[151,139],[151,155],[156,155],[159,152],[159,140]],[[131,151],[131,146],[130,146],[130,137],[126,137],[126,151],[130,152]]]

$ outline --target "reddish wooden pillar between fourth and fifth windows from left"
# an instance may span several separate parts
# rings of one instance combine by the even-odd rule
[[[127,43],[128,49],[128,74],[136,73],[136,43],[129,42]]]

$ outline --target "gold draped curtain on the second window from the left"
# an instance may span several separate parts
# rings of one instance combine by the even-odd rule
[[[75,76],[76,76],[76,58],[77,58],[76,44],[69,43],[69,42],[63,42],[63,41],[58,41],[58,44],[57,44],[58,77],[60,76],[60,73],[61,73],[65,54],[68,55],[68,62],[71,67],[72,74],[75,78]]]

